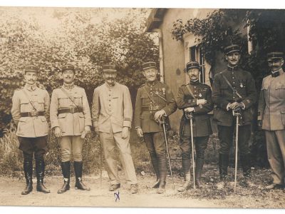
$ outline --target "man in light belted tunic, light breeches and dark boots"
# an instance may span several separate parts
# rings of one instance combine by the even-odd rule
[[[71,152],[73,153],[75,187],[90,190],[82,182],[82,147],[86,134],[90,132],[91,116],[84,88],[74,84],[75,68],[66,64],[61,68],[63,86],[53,90],[51,95],[51,128],[61,146],[61,170],[63,186],[58,193],[70,189]]]

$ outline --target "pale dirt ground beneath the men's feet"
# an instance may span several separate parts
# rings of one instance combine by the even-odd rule
[[[22,176],[0,177],[0,205],[31,205],[31,206],[87,206],[87,207],[172,207],[172,208],[285,208],[284,190],[265,190],[270,180],[270,171],[266,169],[252,170],[254,186],[244,185],[242,178],[237,183],[237,192],[233,193],[233,181],[229,178],[224,190],[217,190],[217,169],[205,167],[207,172],[202,176],[203,186],[200,189],[190,189],[185,193],[178,193],[177,188],[183,180],[175,175],[175,189],[172,189],[172,180],[167,178],[165,194],[158,195],[155,189],[150,188],[155,177],[150,173],[138,175],[139,193],[131,194],[128,185],[122,178],[122,186],[114,192],[108,191],[108,178],[103,172],[102,185],[98,175],[85,176],[84,182],[91,188],[90,191],[76,190],[74,178],[71,179],[71,190],[58,194],[63,180],[61,176],[46,176],[46,187],[51,193],[43,194],[36,191],[36,178],[33,178],[33,192],[21,195],[25,186]],[[233,169],[229,170],[229,174]],[[117,200],[116,200],[117,198]]]

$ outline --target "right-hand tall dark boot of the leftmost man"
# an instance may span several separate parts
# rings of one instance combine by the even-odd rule
[[[51,191],[48,190],[46,186],[43,184],[44,170],[45,170],[45,163],[43,161],[43,157],[36,157],[36,179],[37,179],[36,190],[42,193],[51,193]]]

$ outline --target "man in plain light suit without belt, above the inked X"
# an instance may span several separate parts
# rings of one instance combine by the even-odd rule
[[[118,166],[115,161],[115,146],[117,146],[126,180],[130,185],[130,193],[138,193],[138,181],[129,143],[133,106],[129,89],[115,81],[117,72],[114,64],[103,65],[105,83],[95,88],[93,94],[93,126],[100,136],[103,147],[111,183],[109,190],[120,188]]]

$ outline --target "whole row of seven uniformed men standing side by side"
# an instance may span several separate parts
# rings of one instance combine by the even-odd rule
[[[140,86],[135,101],[134,123],[138,136],[144,138],[150,159],[155,170],[156,182],[153,188],[157,193],[165,193],[167,158],[162,121],[179,109],[183,115],[180,123],[180,148],[182,170],[185,183],[178,189],[182,192],[192,186],[191,152],[195,144],[195,183],[201,185],[200,178],[204,164],[204,151],[209,135],[212,134],[209,112],[214,108],[217,121],[219,149],[219,175],[222,183],[227,178],[229,148],[232,145],[236,117],[239,116],[238,147],[244,178],[249,182],[250,156],[249,138],[253,119],[252,106],[257,101],[257,91],[252,75],[239,67],[239,46],[224,49],[227,69],[214,76],[212,90],[199,83],[199,63],[190,61],[186,73],[190,78],[173,96],[170,87],[157,81],[157,66],[153,61],[142,64],[142,74],[146,83]],[[268,54],[271,75],[266,76],[259,98],[259,120],[266,130],[266,145],[271,165],[273,183],[266,188],[283,188],[285,174],[285,74],[282,70],[284,56],[281,52]],[[76,175],[75,187],[90,190],[82,182],[82,148],[84,138],[91,126],[100,138],[106,170],[110,178],[110,191],[120,188],[118,166],[115,160],[115,147],[120,153],[120,161],[125,170],[131,193],[138,193],[138,180],[130,151],[130,128],[133,121],[133,107],[128,88],[115,81],[117,69],[113,64],[103,65],[105,83],[95,88],[90,111],[86,92],[74,84],[76,70],[66,64],[61,73],[63,86],[53,90],[50,97],[44,88],[36,86],[38,68],[25,69],[24,88],[16,90],[13,96],[12,116],[17,125],[19,148],[24,153],[24,173],[26,188],[23,195],[33,189],[33,155],[36,159],[38,191],[50,193],[43,184],[44,153],[47,151],[48,121],[61,146],[61,169],[63,186],[58,193],[70,189],[71,153]],[[191,123],[190,123],[191,118]],[[259,122],[261,124],[261,122]],[[193,142],[192,142],[193,139]]]

